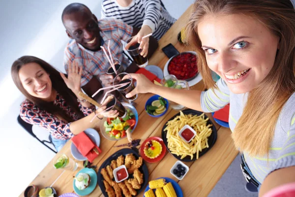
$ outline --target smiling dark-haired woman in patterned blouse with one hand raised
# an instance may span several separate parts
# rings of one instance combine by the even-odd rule
[[[67,77],[45,61],[23,56],[11,67],[15,85],[27,98],[21,104],[21,118],[32,125],[49,130],[53,144],[59,151],[74,135],[88,129],[97,110],[78,94],[81,91],[82,69],[75,62],[69,66]],[[107,102],[107,99],[106,101]],[[116,117],[117,111],[103,112],[102,117]]]

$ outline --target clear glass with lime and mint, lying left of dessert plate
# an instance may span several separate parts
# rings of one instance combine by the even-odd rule
[[[61,168],[69,171],[76,171],[78,169],[78,163],[67,155],[62,154],[54,159],[54,167]]]

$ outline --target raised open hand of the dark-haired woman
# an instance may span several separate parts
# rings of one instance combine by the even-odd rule
[[[68,63],[68,76],[67,78],[63,73],[60,73],[64,83],[66,86],[73,91],[75,95],[78,95],[81,91],[81,75],[82,75],[82,67],[78,66],[78,63],[73,61]]]

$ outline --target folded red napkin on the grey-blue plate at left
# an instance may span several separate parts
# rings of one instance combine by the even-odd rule
[[[101,150],[96,146],[95,143],[87,136],[87,134],[83,131],[78,135],[72,137],[72,142],[77,147],[79,152],[86,157],[90,163],[98,156],[94,151],[93,148],[96,147],[97,151],[101,153]]]

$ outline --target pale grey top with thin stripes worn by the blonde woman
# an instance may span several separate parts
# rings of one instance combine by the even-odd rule
[[[247,101],[246,94],[233,94],[230,92],[223,79],[218,80],[219,90],[216,95],[209,89],[201,94],[201,107],[204,112],[214,112],[230,104],[229,125],[234,132],[237,121],[242,115],[243,108]],[[266,176],[279,168],[295,165],[295,93],[285,103],[274,131],[268,161],[267,156],[250,157],[243,153],[245,161],[255,178],[262,183]],[[251,143],[251,142],[249,142]],[[268,163],[268,164],[267,164]]]

